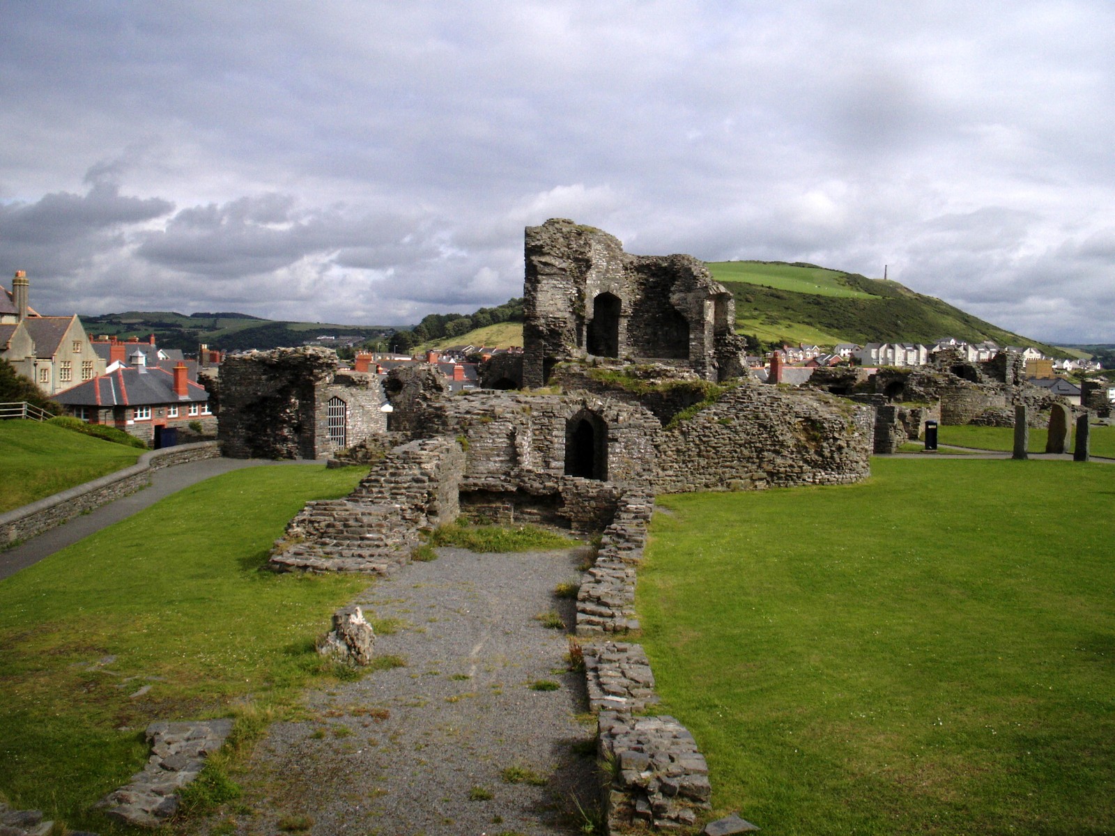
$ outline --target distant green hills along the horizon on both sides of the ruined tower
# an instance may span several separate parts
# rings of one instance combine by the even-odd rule
[[[905,288],[895,281],[867,279],[803,262],[708,262],[712,276],[736,300],[736,329],[769,347],[774,343],[921,342],[946,337],[969,342],[992,340],[999,346],[1034,348],[1051,357],[1097,356],[1112,347],[1056,347],[993,325],[970,313]],[[340,325],[320,322],[265,320],[235,312],[193,313],[126,311],[81,317],[94,334],[146,338],[161,346],[195,351],[198,343],[223,350],[301,346],[329,334],[370,343],[398,342],[404,351],[416,347],[487,344],[522,346],[522,300],[472,314],[429,314],[413,329],[391,325]],[[482,325],[463,330],[472,324]],[[753,342],[754,344],[754,342]],[[1067,349],[1067,350],[1066,350]],[[1115,352],[1112,352],[1115,353]]]

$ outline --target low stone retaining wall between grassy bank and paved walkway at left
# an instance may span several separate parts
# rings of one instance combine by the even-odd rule
[[[114,499],[134,494],[151,484],[152,470],[204,458],[217,458],[220,455],[216,441],[151,450],[143,454],[132,467],[0,514],[0,548],[11,547]]]

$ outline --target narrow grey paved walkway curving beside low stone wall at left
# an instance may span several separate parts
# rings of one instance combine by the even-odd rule
[[[173,493],[198,482],[243,467],[261,465],[308,465],[307,460],[272,461],[270,459],[206,458],[185,465],[163,467],[152,472],[151,485],[115,502],[101,505],[88,514],[43,532],[14,548],[0,552],[0,581],[19,572],[79,539],[143,511]]]

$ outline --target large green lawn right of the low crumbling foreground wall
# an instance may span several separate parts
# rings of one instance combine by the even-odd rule
[[[872,470],[658,499],[643,643],[717,810],[782,836],[1115,830],[1115,467]]]

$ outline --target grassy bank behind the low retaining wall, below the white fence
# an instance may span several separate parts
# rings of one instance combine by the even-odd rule
[[[0,513],[129,467],[143,453],[39,421],[0,421]]]

